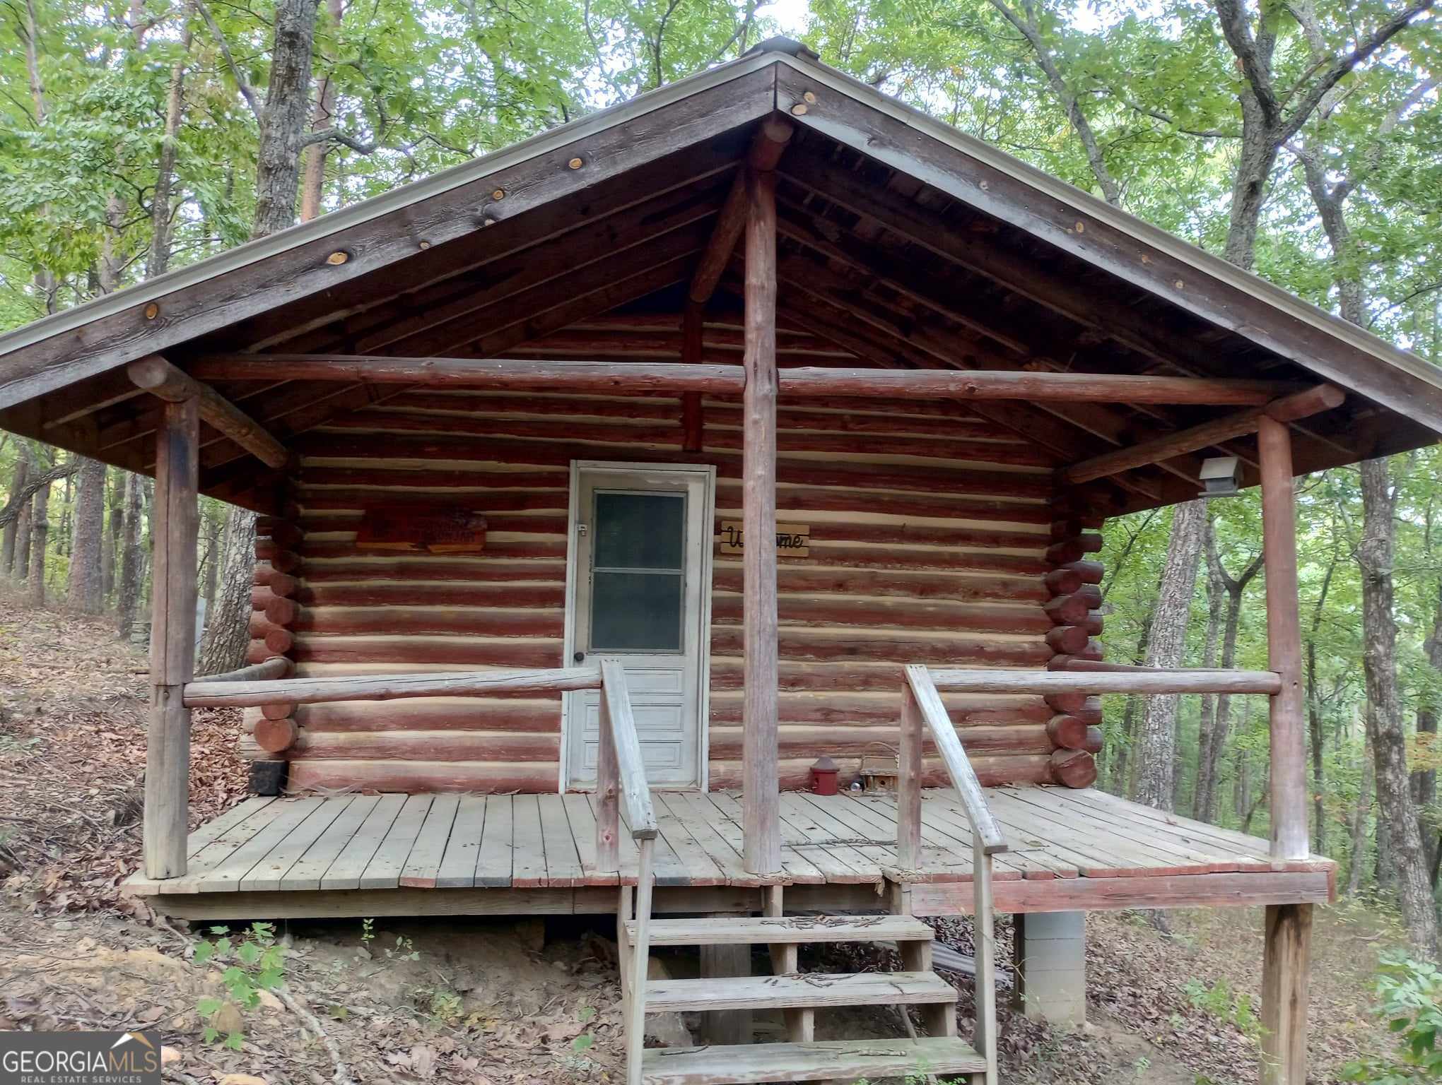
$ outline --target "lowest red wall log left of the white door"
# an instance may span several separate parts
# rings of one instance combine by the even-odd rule
[[[561,767],[545,761],[342,761],[301,758],[290,764],[290,791],[399,791],[410,794],[552,792]]]

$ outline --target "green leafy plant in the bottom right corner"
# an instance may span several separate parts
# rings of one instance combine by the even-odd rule
[[[1344,1081],[1403,1085],[1442,1078],[1442,971],[1403,952],[1384,954],[1377,978],[1377,1016],[1397,1037],[1386,1056],[1368,1056],[1343,1069]]]

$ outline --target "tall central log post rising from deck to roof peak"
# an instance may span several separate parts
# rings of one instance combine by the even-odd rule
[[[776,174],[746,174],[741,810],[746,869],[782,869],[776,769]]]

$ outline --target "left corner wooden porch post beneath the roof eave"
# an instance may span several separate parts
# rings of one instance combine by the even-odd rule
[[[195,542],[199,527],[200,402],[166,402],[156,434],[154,565],[150,611],[150,729],[146,736],[144,860],[147,878],[186,870],[190,709],[195,677]]]

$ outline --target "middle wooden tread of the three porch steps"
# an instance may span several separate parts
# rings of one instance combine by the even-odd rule
[[[789,973],[646,984],[647,1013],[952,1001],[956,988],[936,973]]]

